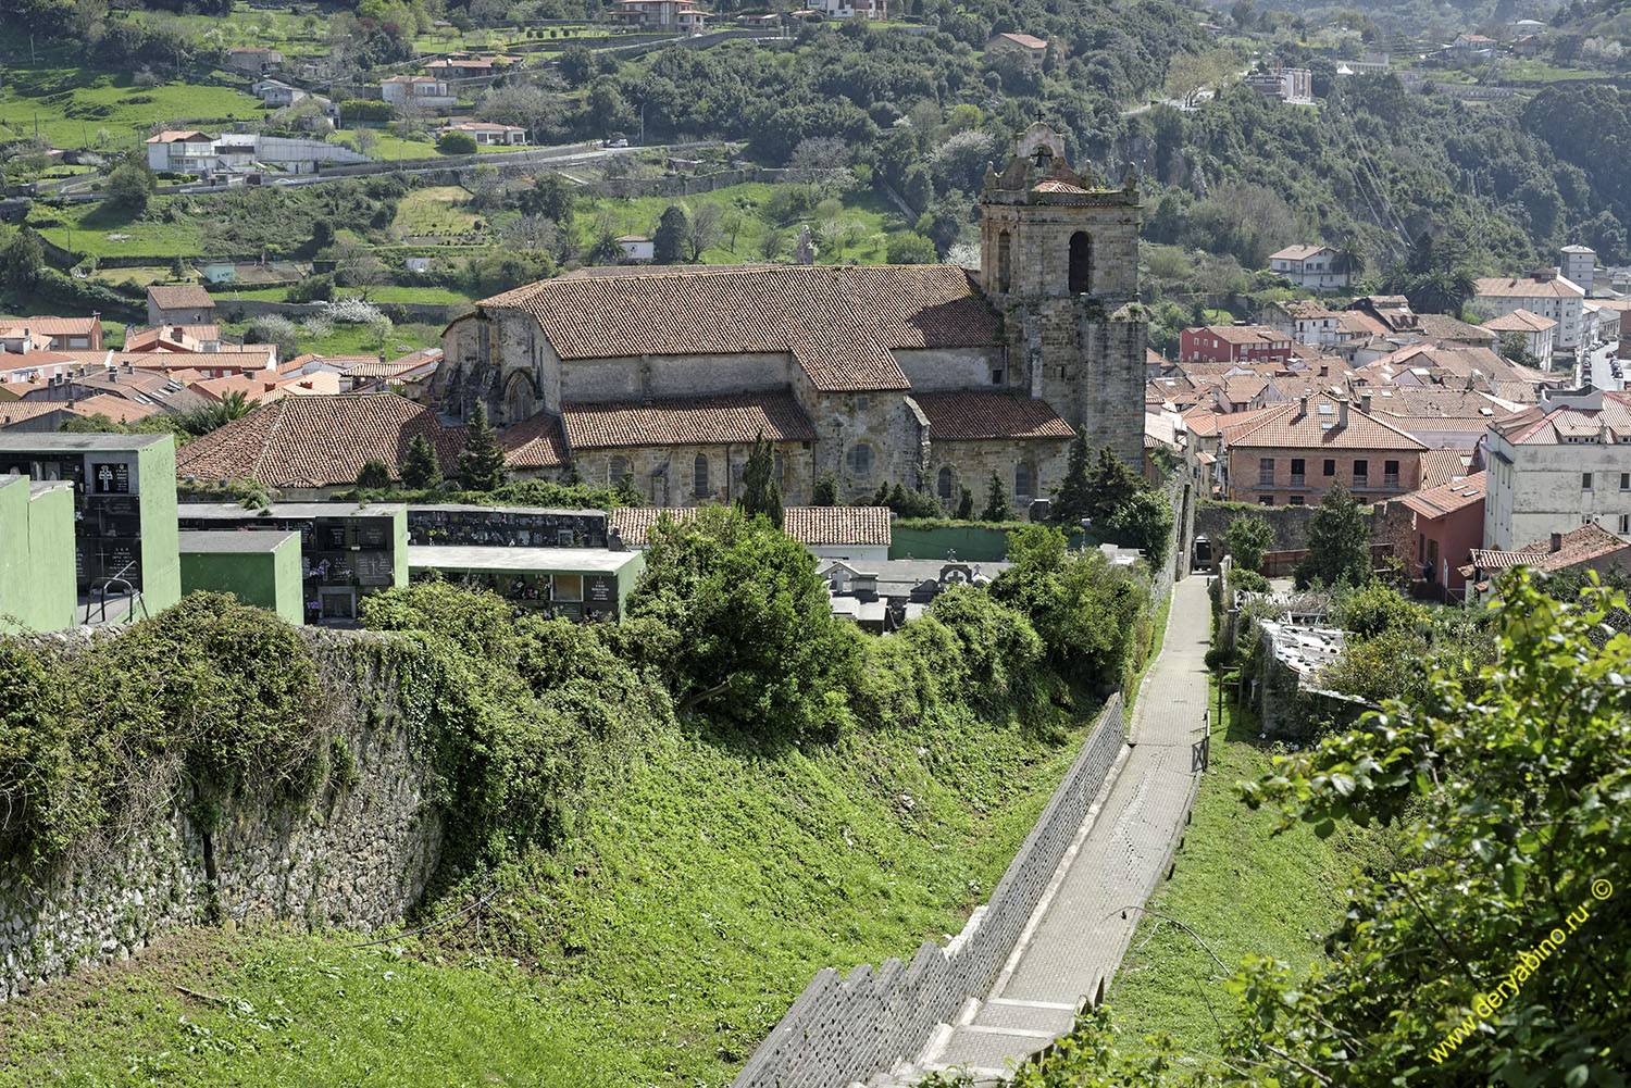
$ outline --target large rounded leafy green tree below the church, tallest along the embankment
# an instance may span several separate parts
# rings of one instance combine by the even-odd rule
[[[664,669],[678,710],[763,739],[833,736],[850,721],[843,679],[858,635],[832,613],[816,558],[729,506],[651,530],[626,615],[675,633]]]

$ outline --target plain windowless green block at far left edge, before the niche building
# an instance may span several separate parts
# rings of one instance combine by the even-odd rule
[[[0,476],[0,630],[73,626],[73,488]]]

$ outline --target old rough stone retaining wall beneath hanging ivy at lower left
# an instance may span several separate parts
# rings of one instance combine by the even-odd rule
[[[183,799],[44,873],[0,860],[0,998],[127,959],[153,938],[212,915],[369,931],[418,902],[440,858],[444,822],[398,724],[395,679],[351,672],[349,643],[367,636],[305,633],[356,785],[326,786],[295,804],[222,801],[210,829],[188,817]],[[370,698],[380,700],[372,713]]]

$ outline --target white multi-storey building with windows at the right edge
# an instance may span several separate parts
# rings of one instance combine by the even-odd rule
[[[1553,396],[1484,434],[1484,546],[1510,551],[1585,522],[1631,537],[1631,393]]]

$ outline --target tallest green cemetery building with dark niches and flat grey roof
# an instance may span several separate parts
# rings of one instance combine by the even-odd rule
[[[73,581],[90,620],[181,600],[171,436],[3,431],[0,473],[72,484]]]

